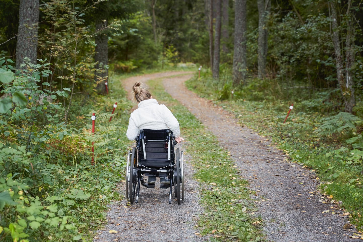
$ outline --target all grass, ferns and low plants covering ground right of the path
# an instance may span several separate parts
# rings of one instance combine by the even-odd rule
[[[317,177],[311,179],[320,181],[321,193],[330,196],[331,203],[341,204],[348,220],[362,231],[361,104],[356,104],[353,115],[341,111],[339,89],[290,88],[291,81],[257,78],[233,87],[231,79],[228,69],[223,70],[220,82],[204,69],[200,79],[195,75],[186,85],[235,114],[241,126],[269,138],[291,162],[314,171]]]

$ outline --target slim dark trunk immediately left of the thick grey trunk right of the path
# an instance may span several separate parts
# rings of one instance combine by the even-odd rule
[[[216,1],[216,33],[214,36],[214,60],[213,60],[213,78],[219,79],[219,61],[220,61],[220,46],[221,46],[221,7],[222,1]]]

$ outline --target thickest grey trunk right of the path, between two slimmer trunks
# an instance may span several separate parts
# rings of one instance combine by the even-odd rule
[[[234,16],[233,85],[237,86],[246,78],[246,0],[236,0]]]

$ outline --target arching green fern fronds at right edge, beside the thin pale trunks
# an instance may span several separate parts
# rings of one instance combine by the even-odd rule
[[[348,112],[339,112],[335,116],[326,118],[317,132],[320,136],[331,136],[344,130],[356,131],[358,122],[362,122],[362,119]]]

